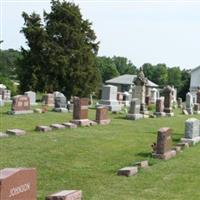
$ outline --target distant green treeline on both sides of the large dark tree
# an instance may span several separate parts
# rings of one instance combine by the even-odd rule
[[[8,86],[12,92],[15,87],[11,80],[18,80],[18,60],[22,57],[21,52],[13,49],[0,50],[0,83]],[[136,67],[125,57],[97,57],[96,66],[100,73],[100,82],[123,74],[137,74],[139,67]],[[152,65],[145,63],[143,66],[145,76],[163,87],[174,85],[178,89],[178,96],[185,98],[190,86],[190,71],[181,70],[180,67],[167,67],[165,64]],[[100,83],[100,85],[101,85]]]

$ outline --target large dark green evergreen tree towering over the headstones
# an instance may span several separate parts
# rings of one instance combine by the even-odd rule
[[[87,96],[97,89],[98,42],[91,23],[83,19],[78,6],[52,0],[51,12],[44,12],[44,25],[35,13],[23,13],[23,18],[22,32],[29,49],[22,48],[22,90],[60,90],[70,97]]]

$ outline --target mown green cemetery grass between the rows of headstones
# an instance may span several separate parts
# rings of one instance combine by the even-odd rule
[[[38,200],[63,189],[81,189],[84,200],[197,200],[200,198],[200,144],[184,150],[169,161],[151,158],[150,145],[160,127],[173,129],[174,144],[184,133],[189,116],[176,111],[176,117],[138,121],[111,114],[112,123],[49,133],[34,131],[36,125],[61,123],[71,113],[5,114],[0,107],[0,131],[21,128],[27,135],[0,139],[0,168],[35,167]],[[95,110],[90,110],[94,119]],[[200,119],[200,117],[195,116]],[[148,160],[149,169],[136,176],[117,176],[118,169]]]

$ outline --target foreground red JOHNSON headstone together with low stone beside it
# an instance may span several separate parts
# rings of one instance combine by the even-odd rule
[[[0,170],[0,200],[36,200],[35,168],[5,168]],[[45,200],[82,200],[81,190],[63,190],[46,196]]]

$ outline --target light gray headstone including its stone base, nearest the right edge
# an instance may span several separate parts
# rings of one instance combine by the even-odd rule
[[[185,135],[182,142],[196,144],[200,141],[200,122],[198,119],[190,118],[185,121]]]

